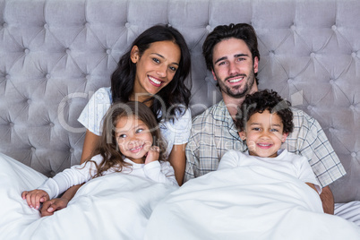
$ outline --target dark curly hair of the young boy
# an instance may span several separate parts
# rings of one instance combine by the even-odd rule
[[[292,133],[294,130],[293,112],[291,103],[282,99],[276,91],[261,90],[246,95],[243,104],[238,108],[236,114],[236,127],[238,131],[244,131],[247,121],[256,113],[269,110],[271,114],[276,113],[284,125],[283,133]]]

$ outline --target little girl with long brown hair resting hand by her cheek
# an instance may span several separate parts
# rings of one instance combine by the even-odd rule
[[[140,102],[109,108],[95,156],[81,166],[65,169],[39,189],[21,193],[31,208],[64,193],[75,184],[114,172],[141,176],[158,183],[175,184],[174,169],[166,160],[159,125],[149,107]]]

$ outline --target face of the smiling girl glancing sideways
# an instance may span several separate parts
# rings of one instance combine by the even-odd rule
[[[116,141],[120,152],[135,163],[144,163],[153,142],[149,127],[136,116],[123,116],[118,120]]]

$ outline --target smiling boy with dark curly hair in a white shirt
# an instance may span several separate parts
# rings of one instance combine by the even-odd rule
[[[242,109],[238,109],[235,123],[248,151],[227,151],[219,162],[218,170],[241,166],[267,167],[296,176],[320,194],[321,186],[308,160],[280,150],[288,133],[294,129],[293,113],[289,107],[290,103],[272,90],[247,95]]]

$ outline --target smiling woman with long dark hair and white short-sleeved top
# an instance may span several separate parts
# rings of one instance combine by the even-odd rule
[[[178,30],[157,25],[142,32],[120,58],[111,76],[111,88],[96,91],[79,116],[79,122],[87,128],[81,163],[92,156],[99,142],[101,120],[108,107],[119,101],[140,101],[158,118],[167,141],[167,159],[181,185],[184,150],[191,129],[191,113],[187,108],[190,82],[185,82],[190,66],[190,52]],[[79,187],[73,186],[59,199],[45,201],[41,215],[52,215],[55,210],[66,207]]]

